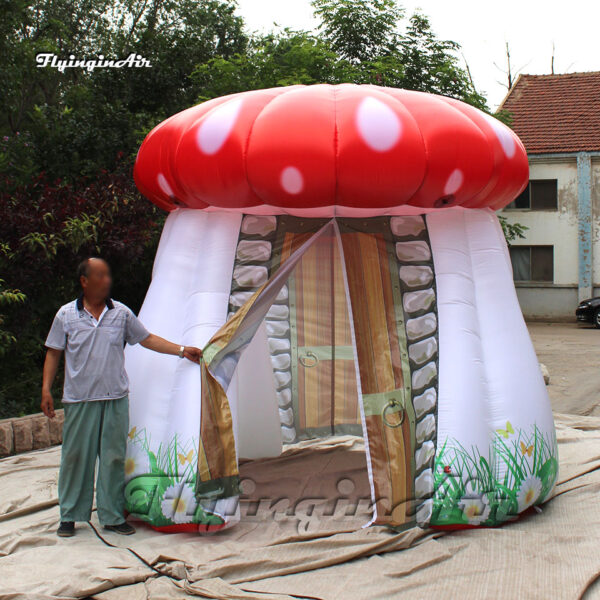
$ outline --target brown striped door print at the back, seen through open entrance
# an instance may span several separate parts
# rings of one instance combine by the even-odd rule
[[[281,217],[276,266],[322,224]],[[323,236],[306,252],[288,281],[288,295],[292,407],[298,438],[361,435],[354,351],[335,238]]]

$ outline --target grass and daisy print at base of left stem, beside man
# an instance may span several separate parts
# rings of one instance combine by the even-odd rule
[[[153,452],[145,430],[129,432],[125,460],[125,505],[129,514],[164,531],[213,531],[225,520],[198,503],[196,485],[197,444],[185,447],[175,436]]]

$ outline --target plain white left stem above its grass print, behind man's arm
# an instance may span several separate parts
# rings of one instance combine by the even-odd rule
[[[178,209],[167,218],[152,283],[140,310],[149,331],[202,348],[227,319],[241,215]],[[126,349],[130,421],[150,447],[177,436],[183,450],[198,442],[198,366],[141,346]]]

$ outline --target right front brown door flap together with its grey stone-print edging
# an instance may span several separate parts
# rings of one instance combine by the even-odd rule
[[[426,524],[437,433],[437,306],[420,215],[338,219],[359,359],[376,523]]]

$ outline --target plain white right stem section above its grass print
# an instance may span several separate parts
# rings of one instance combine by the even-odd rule
[[[487,457],[495,432],[553,432],[550,403],[489,209],[427,215],[439,321],[438,449],[458,440]],[[508,437],[507,437],[508,439]],[[506,464],[498,464],[503,477]]]

